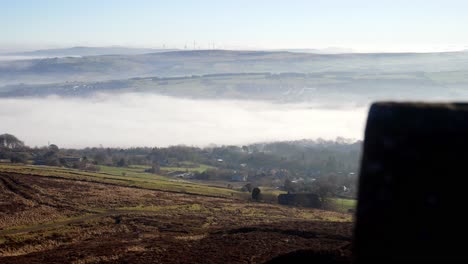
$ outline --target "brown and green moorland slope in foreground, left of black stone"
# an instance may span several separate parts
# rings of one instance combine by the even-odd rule
[[[298,250],[349,261],[350,214],[118,173],[0,165],[0,262],[263,263]]]

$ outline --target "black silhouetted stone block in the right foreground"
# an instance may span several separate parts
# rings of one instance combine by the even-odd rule
[[[357,263],[468,263],[468,104],[377,103],[365,132]]]

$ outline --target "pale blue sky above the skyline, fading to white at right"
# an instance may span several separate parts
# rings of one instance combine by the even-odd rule
[[[0,49],[468,48],[465,0],[0,0]]]

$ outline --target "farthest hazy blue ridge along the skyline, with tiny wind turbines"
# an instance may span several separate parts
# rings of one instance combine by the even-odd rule
[[[101,55],[0,62],[0,86],[94,82],[134,77],[225,73],[347,72],[372,74],[468,71],[468,53],[312,54],[267,51],[195,50],[140,55]]]

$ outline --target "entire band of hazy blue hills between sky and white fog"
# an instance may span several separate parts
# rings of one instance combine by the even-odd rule
[[[365,105],[468,98],[468,53],[197,50],[0,62],[0,97],[153,93]]]

